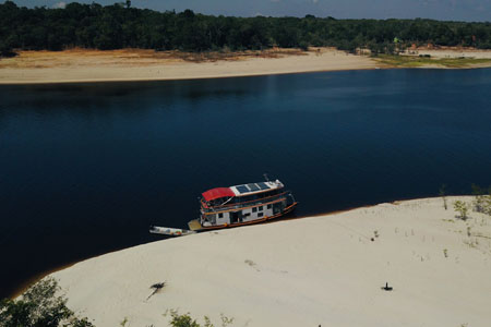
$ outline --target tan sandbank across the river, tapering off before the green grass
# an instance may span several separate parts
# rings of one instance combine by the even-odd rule
[[[0,60],[0,84],[158,81],[374,69],[378,63],[331,48],[303,56],[189,62],[146,50],[24,51]],[[287,53],[287,52],[285,52]]]

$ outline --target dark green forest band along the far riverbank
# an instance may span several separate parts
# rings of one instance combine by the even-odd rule
[[[0,4],[0,53],[16,50],[142,48],[237,51],[271,47],[337,47],[394,53],[412,44],[491,49],[491,23],[433,20],[336,20],[334,17],[213,16],[191,10],[158,12],[131,1],[103,7],[69,3],[64,9]]]

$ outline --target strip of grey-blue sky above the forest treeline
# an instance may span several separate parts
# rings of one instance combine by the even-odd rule
[[[2,0],[0,0],[2,1]],[[79,0],[92,3],[94,0]],[[62,8],[70,0],[14,0],[17,5]],[[96,0],[103,5],[124,0]],[[213,15],[304,16],[335,19],[433,19],[491,22],[491,0],[132,0],[158,11],[191,9]]]

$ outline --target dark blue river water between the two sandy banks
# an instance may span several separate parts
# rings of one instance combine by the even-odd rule
[[[491,184],[491,70],[0,87],[0,296],[262,180],[297,215]]]

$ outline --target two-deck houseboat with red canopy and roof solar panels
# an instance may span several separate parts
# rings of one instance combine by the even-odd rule
[[[202,194],[200,206],[200,219],[188,222],[191,230],[219,229],[275,219],[294,210],[297,202],[279,180],[266,180],[208,190]]]

